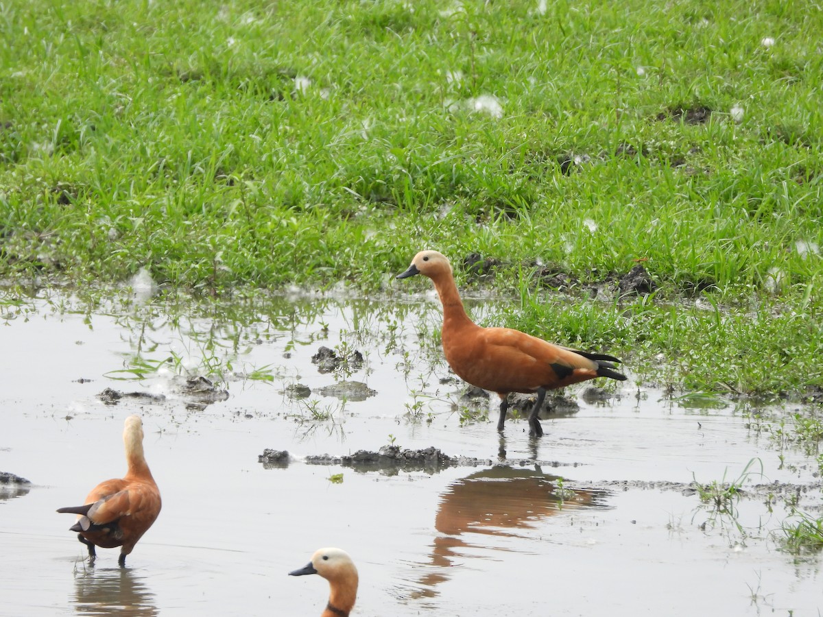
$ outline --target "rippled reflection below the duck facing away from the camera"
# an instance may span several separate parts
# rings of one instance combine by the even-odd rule
[[[75,575],[77,615],[160,615],[145,578],[130,568],[83,568]]]

